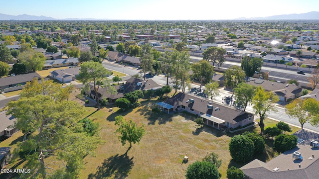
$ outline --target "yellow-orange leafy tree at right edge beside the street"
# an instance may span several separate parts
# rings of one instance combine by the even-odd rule
[[[319,123],[319,102],[316,99],[307,98],[302,100],[297,98],[287,104],[286,109],[286,113],[289,116],[298,118],[302,129],[306,122],[309,122],[313,126],[317,126]]]

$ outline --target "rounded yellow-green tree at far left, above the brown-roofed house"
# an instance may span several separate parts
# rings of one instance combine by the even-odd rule
[[[42,70],[46,58],[41,52],[27,50],[19,55],[19,60],[25,65],[26,70],[35,72],[37,70]]]

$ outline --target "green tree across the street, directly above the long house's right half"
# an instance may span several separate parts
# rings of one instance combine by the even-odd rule
[[[238,66],[232,66],[224,73],[224,84],[229,87],[234,94],[234,89],[241,83],[245,82],[245,72]]]

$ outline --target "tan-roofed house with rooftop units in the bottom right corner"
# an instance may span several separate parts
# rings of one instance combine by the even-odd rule
[[[319,141],[319,134],[302,129],[293,135],[299,142],[295,148],[267,163],[255,159],[241,167],[245,179],[265,179],[265,176],[267,179],[319,179],[319,146],[314,145]]]

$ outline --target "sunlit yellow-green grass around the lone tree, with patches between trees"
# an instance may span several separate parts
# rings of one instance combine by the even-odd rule
[[[83,117],[100,123],[100,136],[105,144],[96,149],[97,157],[84,158],[86,169],[82,170],[81,179],[183,179],[189,164],[200,161],[211,152],[218,154],[219,159],[223,161],[219,169],[222,179],[226,179],[226,170],[230,166],[243,166],[234,163],[228,151],[231,137],[238,133],[230,134],[208,126],[197,129],[193,121],[196,116],[186,112],[173,115],[160,112],[156,115],[151,112],[156,102],[143,101],[139,107],[127,111],[113,106],[113,111],[105,107],[99,111],[94,107],[85,107],[86,112]],[[146,129],[140,144],[133,144],[129,151],[127,151],[129,144],[122,146],[114,134],[117,129],[114,125],[117,115],[132,119],[138,125],[144,125]],[[266,119],[265,128],[272,127],[276,123]],[[299,130],[296,127],[292,129],[293,132]],[[253,130],[260,133],[259,126]],[[17,141],[22,140],[21,136],[21,132],[14,134],[1,142],[0,147],[14,147]],[[272,143],[272,140],[266,140],[265,153],[256,158],[269,161],[277,156],[278,153],[272,149]],[[182,163],[185,155],[189,157],[186,164]],[[15,163],[17,162],[19,161]],[[15,163],[9,164],[8,167],[12,167]]]

